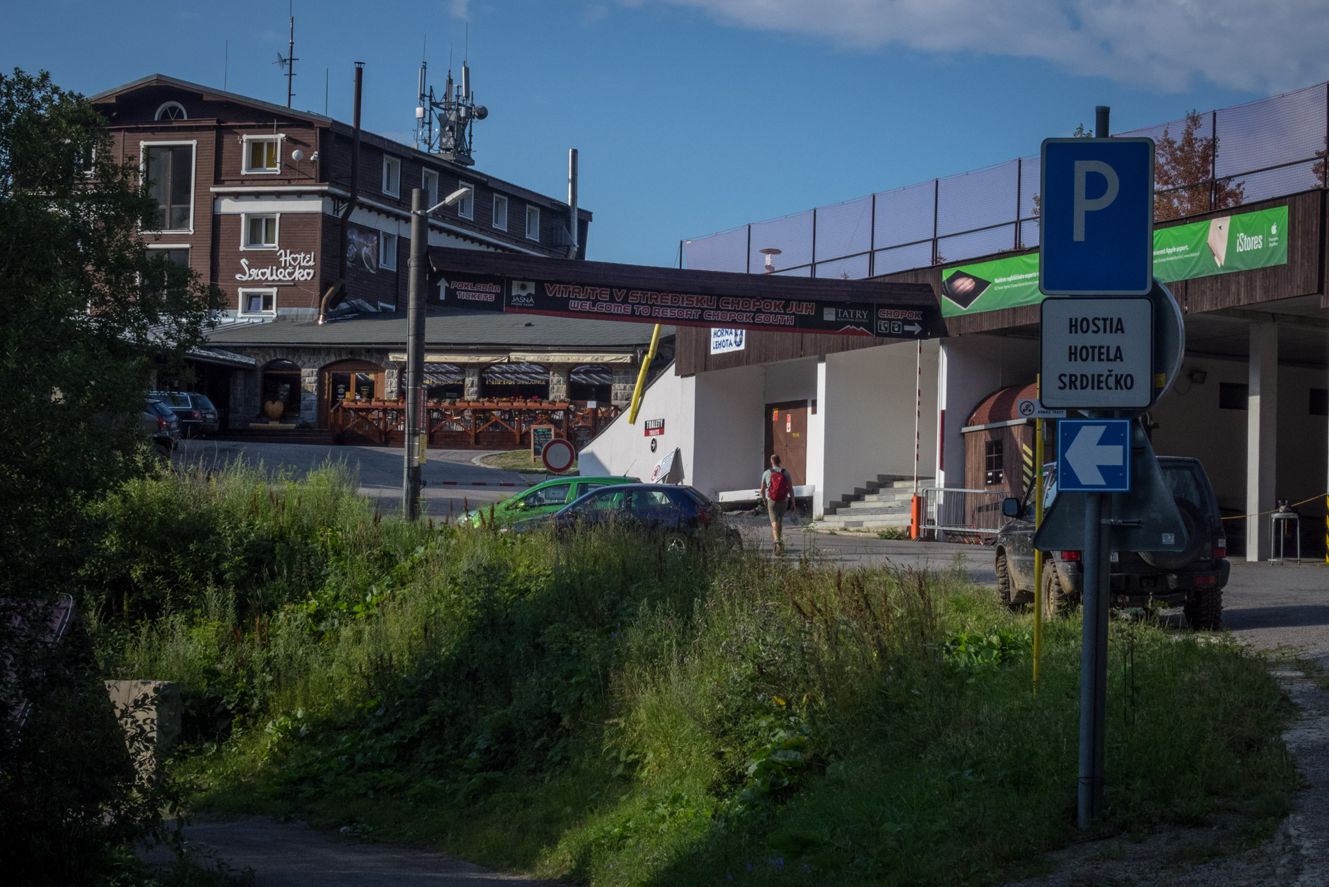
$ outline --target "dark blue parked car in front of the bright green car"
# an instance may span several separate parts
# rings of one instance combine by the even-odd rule
[[[541,527],[554,532],[574,527],[629,524],[664,533],[671,548],[683,548],[698,533],[711,532],[726,544],[739,541],[739,533],[723,523],[720,507],[691,487],[674,484],[617,484],[593,489],[553,515],[518,520],[513,532]]]

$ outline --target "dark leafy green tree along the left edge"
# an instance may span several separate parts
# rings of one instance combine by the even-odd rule
[[[48,74],[0,74],[0,864],[97,883],[159,823],[136,785],[86,636],[51,606],[97,539],[86,504],[144,471],[152,372],[182,368],[217,291],[152,259],[155,202],[105,121]],[[27,710],[20,729],[17,711]],[[113,721],[110,721],[113,723]]]

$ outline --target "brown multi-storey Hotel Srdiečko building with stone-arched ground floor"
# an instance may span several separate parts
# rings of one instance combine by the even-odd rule
[[[397,398],[412,189],[424,188],[431,205],[472,189],[429,218],[431,246],[566,258],[573,242],[567,203],[363,132],[346,293],[318,323],[320,298],[340,277],[348,124],[165,74],[92,101],[120,157],[141,164],[161,203],[159,229],[145,231],[149,249],[169,251],[226,294],[209,347],[191,362],[195,386],[229,414],[230,428],[267,423],[263,404],[272,400],[284,404],[283,424],[327,428],[347,390],[361,402]],[[585,258],[591,214],[577,217],[577,258]],[[581,395],[605,411],[630,396],[650,338],[639,324],[453,314],[449,322],[449,313],[431,310],[427,323],[427,382],[440,399]],[[375,438],[373,424],[381,416],[360,423],[361,438]],[[513,424],[490,427],[490,443],[506,443]],[[452,436],[474,444],[485,435]]]

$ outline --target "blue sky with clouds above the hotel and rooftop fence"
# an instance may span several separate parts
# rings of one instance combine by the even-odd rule
[[[408,138],[421,43],[441,88],[469,23],[477,166],[553,195],[567,148],[590,258],[678,241],[1329,78],[1324,0],[296,0],[298,108]],[[284,102],[287,4],[48,0],[0,64],[84,93],[161,72]]]

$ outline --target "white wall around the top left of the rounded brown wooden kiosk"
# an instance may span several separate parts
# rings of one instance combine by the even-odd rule
[[[960,430],[969,414],[993,391],[1037,380],[1038,360],[1038,339],[974,334],[941,342],[938,408],[945,412],[936,416],[944,426],[936,461],[938,485],[965,485],[965,439]]]

